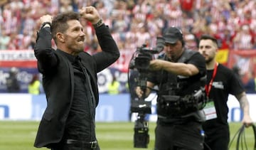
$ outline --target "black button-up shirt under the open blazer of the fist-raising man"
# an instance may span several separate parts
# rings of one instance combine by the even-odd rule
[[[63,52],[64,53],[64,52]],[[95,141],[95,105],[90,92],[90,78],[79,65],[78,56],[64,53],[73,65],[74,72],[74,97],[65,127],[65,139],[79,141]],[[81,68],[82,67],[82,68]],[[90,80],[90,79],[89,79]]]

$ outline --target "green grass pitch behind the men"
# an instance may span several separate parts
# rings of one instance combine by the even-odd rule
[[[39,122],[0,121],[1,150],[36,150],[33,141]],[[154,149],[155,122],[149,122],[150,141],[147,149]],[[241,127],[240,123],[230,123],[230,139]],[[134,122],[96,122],[97,139],[102,150],[139,150],[134,148]],[[252,149],[255,143],[252,128],[245,129],[247,149]],[[230,150],[235,150],[236,139]],[[245,146],[245,145],[244,145]],[[244,147],[245,149],[245,147]],[[41,149],[46,150],[46,149]]]

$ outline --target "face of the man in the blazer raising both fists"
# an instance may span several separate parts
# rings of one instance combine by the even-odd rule
[[[79,53],[85,48],[85,33],[82,25],[78,20],[68,21],[68,30],[65,31],[65,46],[70,53]]]

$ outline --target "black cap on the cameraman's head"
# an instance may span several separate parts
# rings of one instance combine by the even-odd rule
[[[167,28],[166,31],[164,31],[164,41],[165,43],[171,43],[174,44],[177,41],[183,40],[183,34],[180,29],[171,26],[170,28]]]

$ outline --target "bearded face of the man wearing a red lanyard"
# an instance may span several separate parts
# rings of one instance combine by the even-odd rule
[[[206,63],[210,63],[211,61],[215,60],[217,49],[217,45],[211,40],[201,40],[199,42],[198,51],[206,59]]]

